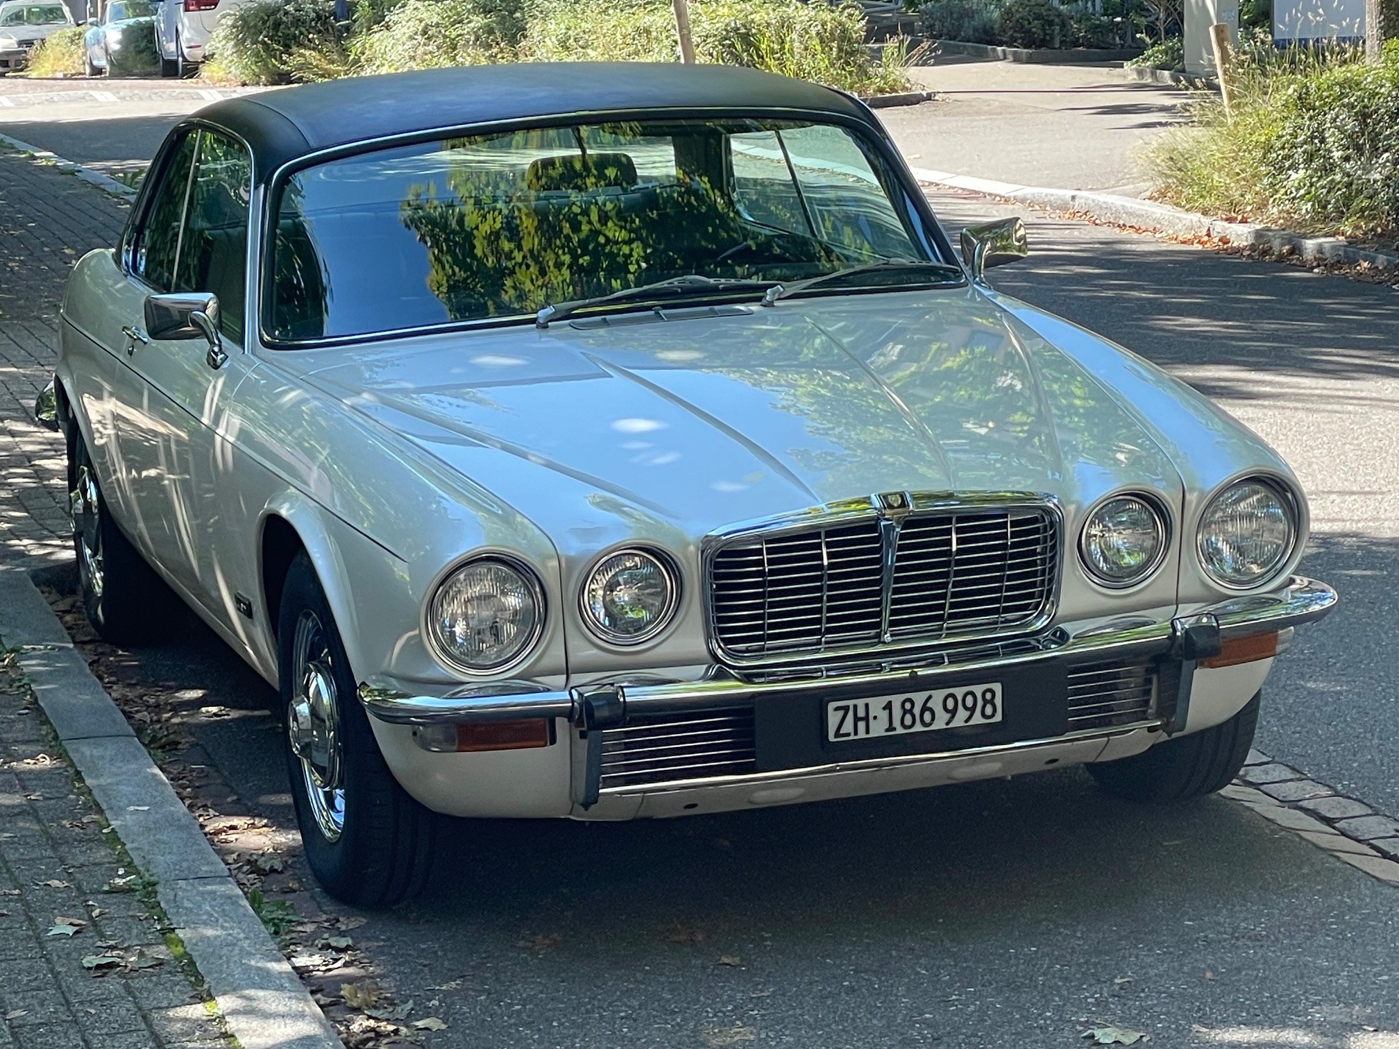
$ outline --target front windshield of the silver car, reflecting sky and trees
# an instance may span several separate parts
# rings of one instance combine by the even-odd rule
[[[295,172],[274,207],[264,323],[280,341],[533,319],[674,278],[684,287],[666,302],[755,298],[764,281],[940,259],[880,152],[810,120],[576,124],[383,148]],[[916,280],[895,269],[831,288]],[[646,304],[623,298],[606,308]]]

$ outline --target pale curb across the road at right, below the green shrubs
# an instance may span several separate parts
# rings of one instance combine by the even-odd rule
[[[1347,266],[1368,263],[1379,269],[1399,266],[1399,252],[1354,248],[1339,236],[1302,236],[1288,229],[1274,229],[1255,222],[1227,222],[1223,218],[1210,218],[1196,211],[1158,204],[1154,200],[1136,200],[1135,197],[1080,189],[1017,186],[1010,182],[951,175],[928,168],[912,168],[912,172],[919,182],[935,186],[951,186],[989,197],[1003,197],[1045,211],[1074,211],[1091,215],[1101,222],[1151,229],[1170,236],[1210,236],[1231,245],[1269,248],[1276,255],[1291,252],[1307,263],[1344,263]]]

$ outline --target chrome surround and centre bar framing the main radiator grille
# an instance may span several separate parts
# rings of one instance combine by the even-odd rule
[[[960,509],[1034,509],[1042,511],[1049,518],[1053,529],[1053,558],[1052,579],[1049,583],[1049,597],[1041,613],[1014,628],[993,632],[963,632],[947,635],[935,642],[907,641],[886,642],[879,645],[856,645],[849,648],[832,648],[825,650],[803,650],[790,653],[774,653],[764,656],[736,656],[719,643],[719,632],[715,622],[713,587],[711,585],[713,561],[716,555],[730,544],[751,536],[774,537],[796,534],[814,527],[828,527],[831,524],[855,523],[862,520],[890,520],[901,523],[911,516],[929,516],[935,513],[950,513]],[[895,529],[897,531],[897,529]],[[1065,513],[1059,499],[1048,492],[881,492],[839,502],[811,506],[793,513],[782,513],[771,518],[758,518],[740,522],[711,531],[701,543],[701,600],[704,603],[705,642],[713,657],[730,667],[775,667],[788,664],[831,664],[858,660],[862,656],[894,656],[921,652],[942,652],[968,642],[993,642],[1006,638],[1018,638],[1037,634],[1049,625],[1059,608],[1059,592],[1063,586],[1063,540]],[[897,537],[897,536],[895,536]],[[890,545],[886,544],[884,592],[886,601],[881,610],[881,620],[888,614],[888,578],[893,573],[893,558]],[[887,622],[884,624],[887,625]]]

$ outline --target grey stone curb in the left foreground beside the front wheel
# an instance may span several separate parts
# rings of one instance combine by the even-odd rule
[[[199,822],[28,573],[0,566],[0,641],[155,894],[242,1049],[343,1049]]]

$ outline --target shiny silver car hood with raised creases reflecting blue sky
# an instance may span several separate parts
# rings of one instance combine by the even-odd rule
[[[1072,506],[1139,485],[1178,505],[1182,484],[1121,399],[975,291],[620,315],[285,358],[555,540],[599,515],[702,536],[884,491],[1045,492]]]

